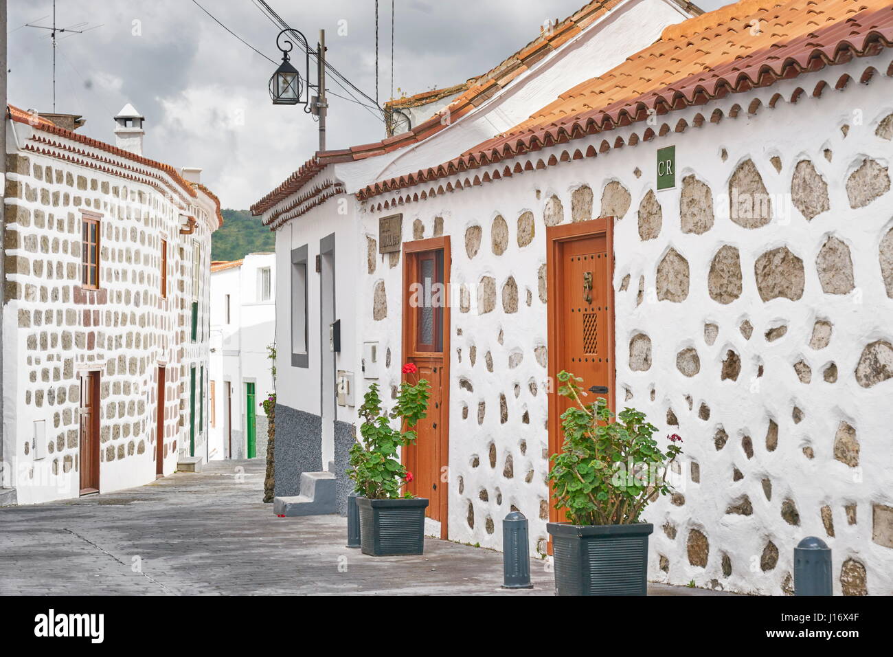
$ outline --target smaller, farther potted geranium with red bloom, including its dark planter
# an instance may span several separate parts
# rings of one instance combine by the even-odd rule
[[[412,363],[403,367],[407,377],[417,373]],[[423,550],[428,500],[413,497],[405,490],[405,484],[413,481],[413,473],[407,472],[397,457],[400,448],[415,442],[414,426],[425,417],[429,387],[424,379],[401,383],[396,405],[389,414],[381,409],[377,383],[372,383],[363,396],[361,440],[350,448],[348,470],[360,495],[356,503],[363,554],[380,557],[421,554]],[[394,419],[399,419],[396,429],[391,422]]]

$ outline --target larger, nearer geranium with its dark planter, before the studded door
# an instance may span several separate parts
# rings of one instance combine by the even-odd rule
[[[613,420],[604,397],[581,399],[582,379],[561,372],[558,393],[573,401],[562,414],[562,451],[549,480],[555,508],[567,522],[550,522],[559,595],[645,595],[650,523],[642,510],[669,493],[667,468],[680,454],[677,434],[664,453],[645,414],[624,409]]]

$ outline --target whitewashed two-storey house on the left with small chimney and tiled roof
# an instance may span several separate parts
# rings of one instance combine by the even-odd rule
[[[125,106],[113,146],[7,110],[3,486],[20,504],[206,458],[220,204],[200,169],[142,155],[144,121]]]

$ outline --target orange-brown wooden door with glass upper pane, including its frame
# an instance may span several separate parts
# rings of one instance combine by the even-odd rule
[[[429,518],[440,522],[447,537],[447,485],[449,476],[449,238],[432,238],[404,244],[404,363],[419,371],[405,380],[425,379],[431,397],[427,417],[416,425],[418,438],[403,453],[413,473],[409,491],[430,500]]]

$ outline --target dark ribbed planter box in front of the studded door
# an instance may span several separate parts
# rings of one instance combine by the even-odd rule
[[[558,595],[646,595],[655,526],[550,522]]]

